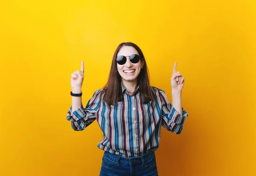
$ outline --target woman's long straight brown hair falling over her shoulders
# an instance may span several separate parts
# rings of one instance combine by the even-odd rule
[[[143,64],[143,68],[141,69],[141,72],[137,79],[138,84],[140,86],[140,91],[143,97],[143,103],[154,101],[154,91],[152,90],[149,83],[148,67],[147,67],[147,63],[145,61],[144,55],[141,49],[136,44],[131,42],[120,43],[116,48],[116,51],[113,55],[110,73],[108,76],[108,82],[104,86],[103,91],[101,93],[101,96],[104,93],[103,100],[107,102],[108,105],[114,105],[116,102],[122,101],[122,88],[121,88],[122,79],[117,70],[116,57],[120,48],[122,48],[122,46],[124,45],[134,47],[138,51],[139,56],[141,58],[140,61]]]

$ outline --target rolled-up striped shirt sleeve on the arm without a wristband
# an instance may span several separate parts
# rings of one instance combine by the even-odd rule
[[[169,102],[165,92],[161,89],[159,89],[159,91],[162,102],[162,126],[168,131],[175,134],[180,134],[183,129],[183,123],[189,114],[182,108],[183,115],[181,116],[180,113]]]

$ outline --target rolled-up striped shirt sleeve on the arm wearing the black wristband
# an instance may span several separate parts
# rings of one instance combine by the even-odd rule
[[[86,107],[83,104],[71,113],[72,106],[67,112],[67,120],[71,122],[74,131],[82,131],[96,119],[96,112],[100,105],[100,90],[94,92],[93,97],[88,101]]]

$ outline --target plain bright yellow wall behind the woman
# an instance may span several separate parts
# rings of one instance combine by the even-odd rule
[[[0,175],[99,175],[102,131],[73,131],[70,75],[82,102],[105,85],[117,45],[139,45],[151,85],[185,77],[183,131],[164,128],[160,176],[256,174],[254,0],[9,0],[0,3]]]

